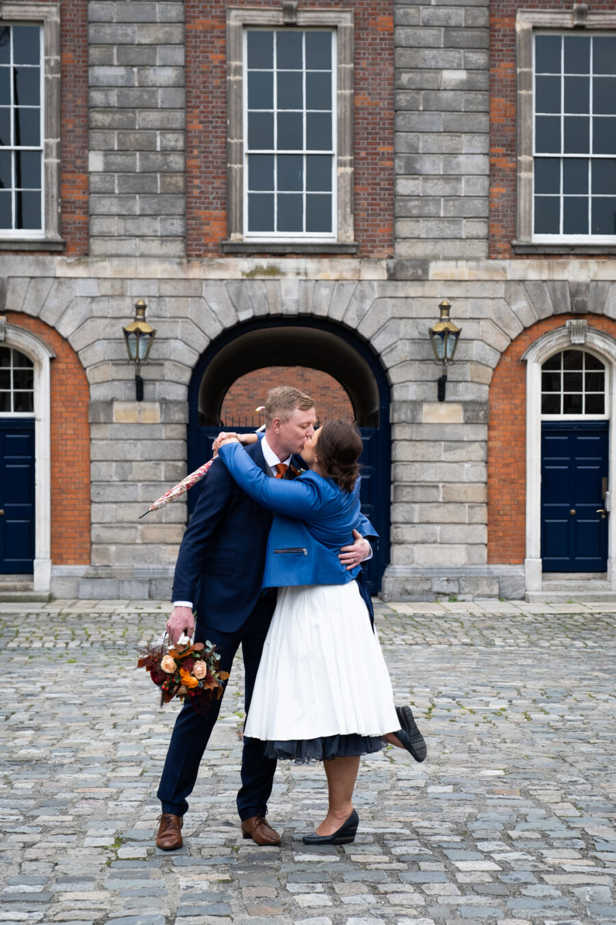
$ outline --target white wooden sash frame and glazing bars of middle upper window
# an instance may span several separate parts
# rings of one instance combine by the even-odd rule
[[[242,40],[242,57],[243,57],[243,71],[242,71],[242,84],[243,84],[243,101],[242,101],[242,110],[243,110],[243,134],[244,134],[244,177],[248,177],[248,31],[250,27],[245,27],[243,30],[243,40]],[[279,32],[280,29],[266,29],[264,31]],[[308,31],[308,30],[302,30]],[[335,29],[315,29],[314,31],[327,31],[332,35],[332,151],[308,151],[304,147],[301,151],[284,151],[284,154],[299,154],[304,157],[304,159],[310,154],[327,154],[332,157],[332,231],[324,231],[321,233],[315,233],[310,231],[248,231],[248,181],[244,183],[244,240],[255,240],[255,241],[264,241],[264,240],[298,240],[298,241],[314,241],[314,240],[336,240],[338,228],[337,228],[337,189],[336,189],[336,161],[337,161],[337,139],[336,139],[336,126],[338,124],[337,113],[336,113],[336,85],[335,85],[335,75],[336,75],[336,64],[337,64],[337,35]],[[306,73],[306,68],[302,71]],[[274,114],[276,112],[276,71],[274,70],[274,103],[273,110]],[[306,141],[306,108],[304,108],[304,141]],[[274,116],[275,118],[275,116]],[[280,149],[273,148],[271,151],[260,150],[259,154],[272,154],[274,157],[274,172],[275,172],[275,157],[277,154],[280,154]],[[306,186],[306,172],[304,172],[304,186]],[[277,191],[276,191],[277,192]],[[306,219],[306,191],[304,191],[304,208],[303,215],[304,220]],[[274,193],[274,211],[275,211],[275,198]]]

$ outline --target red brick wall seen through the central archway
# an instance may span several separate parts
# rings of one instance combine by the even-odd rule
[[[259,426],[264,419],[255,414],[255,408],[265,401],[268,388],[283,383],[300,388],[314,399],[321,422],[332,417],[353,420],[353,405],[340,383],[327,373],[303,366],[271,366],[241,376],[224,396],[221,420],[236,426],[246,420],[248,426]]]

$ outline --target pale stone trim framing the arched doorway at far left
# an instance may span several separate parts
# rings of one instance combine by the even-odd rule
[[[34,590],[49,591],[52,576],[50,366],[55,354],[42,340],[17,325],[6,325],[3,344],[16,347],[34,364]]]

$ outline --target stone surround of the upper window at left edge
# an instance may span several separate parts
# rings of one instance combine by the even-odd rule
[[[60,236],[60,10],[58,3],[0,3],[0,25],[42,27],[42,228],[0,229],[0,250],[63,246]],[[10,149],[14,150],[14,149]],[[39,149],[32,149],[39,150]]]

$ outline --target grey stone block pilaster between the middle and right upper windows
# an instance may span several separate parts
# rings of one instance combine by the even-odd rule
[[[395,254],[488,254],[489,4],[395,7]]]

